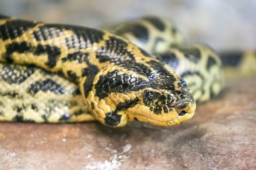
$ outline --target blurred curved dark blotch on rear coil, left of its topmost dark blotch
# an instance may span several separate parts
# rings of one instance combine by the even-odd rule
[[[142,43],[147,43],[149,39],[148,29],[138,23],[125,24],[122,29],[117,30],[115,34],[123,36],[125,33],[134,34],[135,37]]]

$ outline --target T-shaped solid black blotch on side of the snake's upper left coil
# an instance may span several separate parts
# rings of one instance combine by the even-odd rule
[[[60,53],[61,51],[59,47],[51,45],[44,46],[41,44],[39,44],[34,51],[35,55],[47,54],[48,61],[45,63],[45,65],[49,68],[54,68],[56,66]]]

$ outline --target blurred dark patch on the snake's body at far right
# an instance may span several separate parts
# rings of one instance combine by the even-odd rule
[[[222,52],[219,57],[223,66],[236,67],[242,61],[243,54],[243,51]]]

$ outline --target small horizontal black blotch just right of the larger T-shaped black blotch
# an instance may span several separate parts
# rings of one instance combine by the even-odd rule
[[[62,62],[67,61],[78,61],[78,63],[88,63],[89,61],[89,53],[88,52],[74,52],[72,54],[68,54],[67,57],[61,59]]]

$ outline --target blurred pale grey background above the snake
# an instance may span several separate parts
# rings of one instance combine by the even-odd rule
[[[256,49],[256,0],[0,0],[0,14],[88,27],[157,15],[170,18],[190,43]]]

